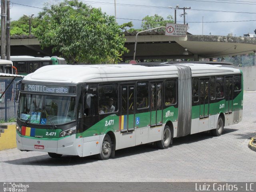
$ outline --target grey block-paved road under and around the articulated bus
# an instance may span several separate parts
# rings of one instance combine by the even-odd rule
[[[244,114],[220,137],[206,133],[175,138],[172,147],[149,145],[116,151],[107,161],[94,157],[53,159],[42,152],[0,151],[0,182],[253,182],[256,152],[256,92],[244,93]]]

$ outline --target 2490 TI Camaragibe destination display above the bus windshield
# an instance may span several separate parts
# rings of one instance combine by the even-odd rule
[[[74,86],[24,84],[24,91],[68,94],[76,93],[76,88]]]

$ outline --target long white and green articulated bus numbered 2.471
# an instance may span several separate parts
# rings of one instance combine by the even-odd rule
[[[21,84],[21,151],[113,157],[151,143],[211,132],[242,120],[242,71],[210,64],[45,66]]]

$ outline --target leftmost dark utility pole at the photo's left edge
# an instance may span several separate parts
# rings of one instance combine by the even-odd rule
[[[6,0],[1,0],[1,59],[6,59]]]

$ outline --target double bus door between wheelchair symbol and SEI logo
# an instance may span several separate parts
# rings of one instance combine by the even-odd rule
[[[150,83],[150,126],[162,125],[162,82]]]

